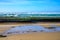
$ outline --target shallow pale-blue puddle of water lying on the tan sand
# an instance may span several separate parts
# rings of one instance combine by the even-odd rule
[[[4,32],[7,34],[23,34],[30,32],[60,32],[60,27],[51,26],[51,27],[43,27],[43,26],[16,26],[12,27],[10,30]]]

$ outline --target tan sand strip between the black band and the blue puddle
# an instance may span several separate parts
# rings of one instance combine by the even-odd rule
[[[21,26],[21,25],[40,25],[44,27],[50,27],[51,25],[60,26],[60,22],[38,22],[38,23],[20,23],[20,22],[6,22],[0,23],[0,32],[10,29],[14,26]]]

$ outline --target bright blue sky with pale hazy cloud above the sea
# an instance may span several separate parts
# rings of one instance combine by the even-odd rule
[[[0,12],[59,11],[60,0],[0,0]]]

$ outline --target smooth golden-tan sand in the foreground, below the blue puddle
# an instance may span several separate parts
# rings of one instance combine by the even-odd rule
[[[10,35],[0,40],[60,40],[60,32]]]

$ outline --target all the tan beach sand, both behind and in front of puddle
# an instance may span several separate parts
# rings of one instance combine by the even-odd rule
[[[0,33],[10,29],[12,26],[20,25],[42,25],[44,27],[50,27],[50,25],[60,26],[60,23],[49,23],[49,22],[39,22],[39,23],[0,23]],[[18,34],[10,35],[5,38],[0,38],[0,40],[60,40],[60,32],[51,33],[28,33],[28,34]]]

